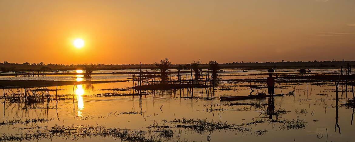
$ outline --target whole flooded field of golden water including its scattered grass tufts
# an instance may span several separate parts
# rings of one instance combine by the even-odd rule
[[[0,76],[0,80],[77,81],[58,87],[1,89],[1,95],[28,92],[42,98],[36,103],[2,98],[0,140],[351,142],[354,108],[343,105],[353,98],[351,86],[339,84],[336,92],[329,80],[289,79],[338,74],[339,69],[313,69],[302,75],[292,69],[278,70],[275,94],[284,96],[238,101],[219,97],[245,96],[250,88],[252,94],[266,93],[267,70],[223,69],[214,87],[155,91],[135,91],[132,81],[81,84],[86,79],[75,75]],[[92,75],[90,81],[129,78]]]

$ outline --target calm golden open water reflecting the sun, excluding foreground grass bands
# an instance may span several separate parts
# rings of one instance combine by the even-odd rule
[[[188,89],[173,91],[147,91],[146,95],[98,97],[102,93],[131,94],[133,91],[109,90],[112,88],[129,88],[132,82],[103,83],[92,85],[59,86],[58,94],[72,96],[75,99],[60,100],[58,109],[56,101],[48,104],[3,103],[0,110],[3,110],[1,122],[13,119],[48,119],[48,122],[1,125],[0,131],[5,134],[31,133],[32,127],[48,126],[56,124],[63,126],[105,126],[107,128],[140,129],[148,131],[152,124],[159,126],[170,126],[174,135],[171,138],[161,138],[160,141],[328,141],[328,142],[350,142],[354,141],[355,123],[353,120],[354,109],[343,107],[346,97],[352,97],[352,93],[339,92],[339,106],[335,101],[335,86],[333,84],[318,85],[315,83],[276,83],[275,93],[288,93],[294,91],[294,95],[274,97],[269,99],[240,100],[232,102],[220,102],[219,96],[236,96],[249,94],[250,85],[259,86],[255,90],[267,92],[260,82],[250,82],[230,79],[255,79],[267,77],[266,70],[228,69],[219,73],[220,81],[213,89],[195,88],[193,94]],[[236,72],[238,71],[238,72]],[[288,71],[288,72],[285,72]],[[337,70],[312,70],[312,74],[333,74]],[[100,72],[100,71],[99,71]],[[104,71],[102,71],[104,72]],[[122,72],[121,70],[110,70],[108,72]],[[278,70],[281,77],[297,74],[296,70]],[[189,74],[190,75],[190,74]],[[174,76],[174,75],[173,75]],[[182,75],[185,76],[185,75]],[[43,77],[4,77],[1,79],[24,80],[57,80],[75,81],[75,76],[43,76]],[[91,80],[127,80],[127,75],[93,75]],[[228,80],[228,81],[227,81]],[[79,81],[80,82],[80,81]],[[279,86],[282,86],[280,89]],[[230,90],[223,90],[229,88]],[[340,86],[342,89],[343,86]],[[56,87],[48,87],[56,89]],[[223,91],[219,90],[222,89]],[[0,94],[2,94],[2,89]],[[55,94],[55,91],[50,91]],[[196,97],[182,98],[186,96]],[[206,99],[206,98],[211,99]],[[4,102],[2,99],[1,102]],[[251,103],[262,102],[264,108],[255,108],[250,105],[229,105],[230,103]],[[274,109],[273,109],[274,108]],[[338,112],[336,109],[338,108]],[[285,114],[270,116],[265,110],[284,110]],[[138,114],[118,114],[121,112],[133,111]],[[140,112],[142,112],[140,114]],[[117,115],[113,115],[115,113]],[[338,118],[336,118],[338,114]],[[197,132],[193,129],[175,127],[176,124],[169,123],[174,119],[206,119],[208,121],[223,121],[231,125],[240,126],[249,131],[234,129],[221,129],[209,132]],[[336,127],[338,119],[339,128]],[[288,128],[281,122],[272,123],[273,120],[299,121],[304,124],[299,128]],[[250,122],[259,121],[251,124]],[[248,124],[249,123],[249,124]],[[334,129],[336,127],[336,129]],[[31,129],[22,129],[31,128]],[[263,133],[260,133],[263,131]],[[147,138],[150,137],[147,135]],[[52,141],[63,141],[65,138],[58,137]],[[70,140],[70,139],[69,139]],[[77,141],[87,141],[88,138],[80,138]],[[112,141],[111,137],[92,137],[94,141]],[[42,139],[39,141],[49,141]],[[116,139],[116,141],[120,141]]]

